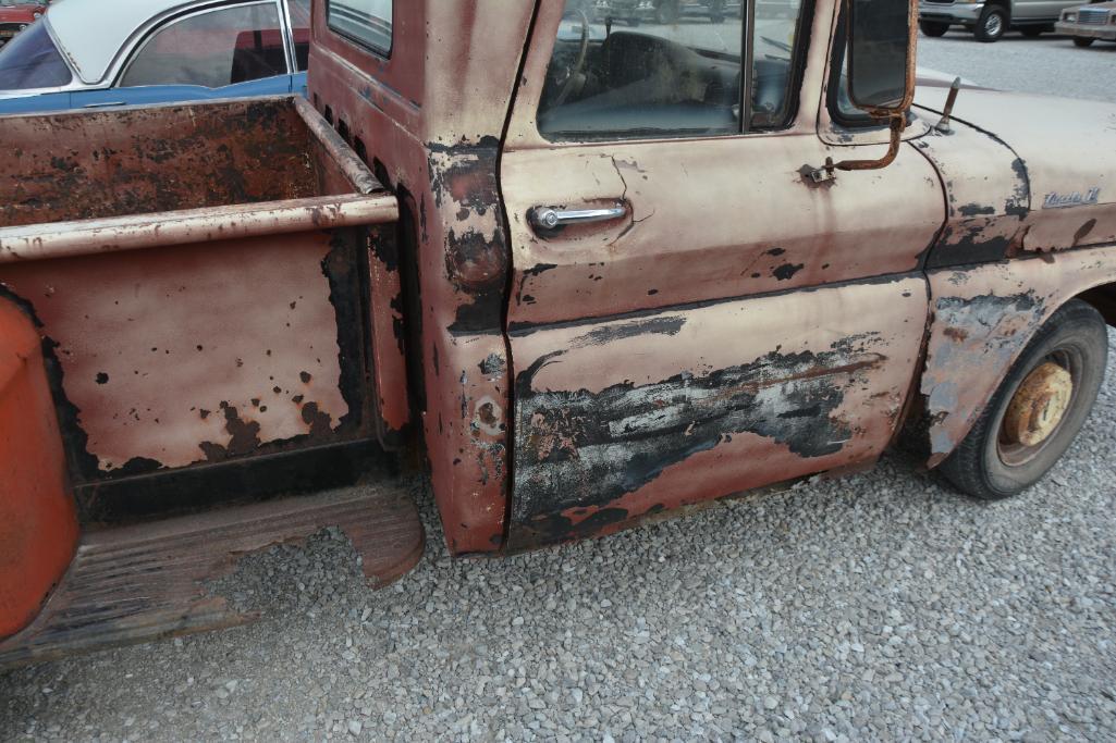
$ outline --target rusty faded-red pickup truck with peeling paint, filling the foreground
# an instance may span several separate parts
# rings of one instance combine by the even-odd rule
[[[315,2],[308,100],[0,120],[0,664],[248,621],[209,579],[326,525],[384,585],[416,471],[483,556],[1071,445],[1116,108],[916,86],[912,0],[566,4]]]

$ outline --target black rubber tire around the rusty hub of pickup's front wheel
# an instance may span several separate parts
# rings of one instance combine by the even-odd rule
[[[1078,299],[1066,302],[1036,331],[972,431],[939,471],[954,488],[981,500],[1009,498],[1033,485],[1066,453],[1089,417],[1107,358],[1108,328],[1100,313]],[[1032,446],[1010,443],[1006,431],[1013,397],[1032,373],[1040,375],[1051,361],[1072,378],[1065,413],[1045,440]]]

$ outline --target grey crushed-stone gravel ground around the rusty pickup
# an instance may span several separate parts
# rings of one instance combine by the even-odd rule
[[[1067,39],[1028,40],[1016,86],[987,79],[1007,42],[921,39],[922,62],[1022,89],[1099,52],[1116,100],[1116,56]],[[335,531],[250,556],[223,592],[262,621],[0,673],[0,740],[1116,739],[1116,354],[1066,457],[1002,502],[888,456],[453,560],[414,489],[426,554],[392,587],[367,590]]]

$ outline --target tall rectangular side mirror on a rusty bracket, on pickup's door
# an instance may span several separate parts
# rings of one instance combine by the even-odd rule
[[[906,113],[914,99],[915,49],[918,39],[916,0],[845,0],[848,12],[848,97],[875,118],[889,119],[887,154],[879,160],[827,158],[810,168],[815,183],[834,178],[834,171],[887,167],[899,154]]]

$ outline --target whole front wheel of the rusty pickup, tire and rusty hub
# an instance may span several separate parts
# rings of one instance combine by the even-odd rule
[[[941,472],[982,500],[1014,495],[1038,482],[1069,448],[1097,399],[1108,329],[1080,300],[1058,309],[1035,334],[988,407]]]

